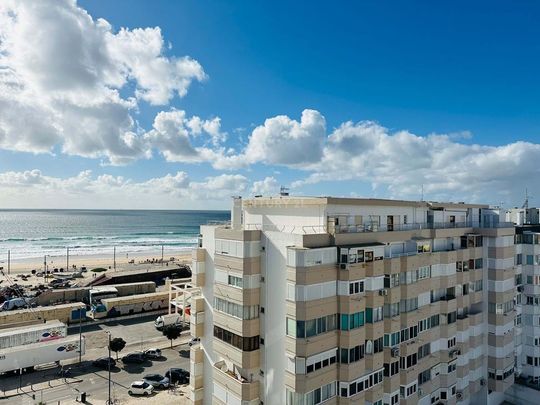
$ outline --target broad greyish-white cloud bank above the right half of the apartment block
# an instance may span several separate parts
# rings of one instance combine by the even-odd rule
[[[391,133],[371,121],[346,122],[324,146],[322,159],[305,166],[300,188],[321,181],[359,180],[384,195],[466,201],[515,201],[528,184],[538,187],[540,145],[463,144],[453,135]]]

